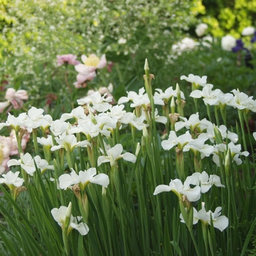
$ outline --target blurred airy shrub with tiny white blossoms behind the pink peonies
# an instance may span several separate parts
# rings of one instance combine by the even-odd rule
[[[119,74],[138,80],[148,53],[156,67],[170,62],[173,40],[194,19],[187,15],[189,7],[187,1],[164,0],[8,1],[7,14],[15,22],[2,29],[8,45],[1,75],[15,89],[49,91],[55,86],[57,54],[104,52]],[[113,84],[127,86],[127,80],[118,76]]]

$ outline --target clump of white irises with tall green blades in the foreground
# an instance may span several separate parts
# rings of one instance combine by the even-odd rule
[[[78,64],[82,71],[104,68],[105,56],[86,58]],[[193,74],[180,78],[192,85],[189,91],[178,83],[156,89],[148,61],[145,67],[145,88],[119,99],[95,89],[77,94],[74,108],[58,115],[34,106],[9,113],[0,128],[14,129],[18,152],[0,178],[8,202],[0,205],[7,223],[1,249],[21,255],[244,252],[256,222],[255,134],[245,130],[255,99]],[[187,105],[194,113],[187,114]],[[231,111],[236,127],[227,126]],[[252,226],[238,239],[247,219]],[[20,247],[8,243],[13,237]]]

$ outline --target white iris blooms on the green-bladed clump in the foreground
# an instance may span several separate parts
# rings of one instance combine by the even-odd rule
[[[182,76],[181,79],[187,80],[194,86],[195,90],[192,91],[190,97],[195,99],[203,98],[206,105],[217,105],[219,108],[225,108],[226,105],[230,105],[241,111],[256,112],[255,99],[248,97],[238,90],[233,90],[232,94],[224,94],[219,89],[213,90],[214,86],[207,83],[206,76],[200,78],[190,74],[188,77]],[[176,88],[170,87],[165,91],[156,89],[153,95],[154,105],[162,106],[163,109],[169,108],[170,101],[174,102],[174,98],[179,96],[184,101],[184,93],[180,91],[178,86]],[[159,116],[157,108],[152,113],[150,99],[145,89],[140,89],[138,93],[127,91],[127,97],[121,97],[115,106],[110,104],[112,100],[112,97],[108,97],[107,94],[102,96],[98,91],[93,92],[87,97],[78,99],[78,104],[80,105],[78,108],[73,109],[70,113],[62,114],[59,119],[54,121],[50,115],[43,114],[44,110],[32,107],[27,113],[21,113],[17,118],[9,114],[7,121],[0,124],[0,129],[10,126],[15,132],[18,132],[20,127],[23,127],[23,129],[27,129],[29,132],[40,129],[44,135],[50,133],[48,136],[37,138],[37,141],[34,141],[34,143],[42,144],[47,154],[53,151],[56,153],[61,151],[66,154],[67,165],[71,173],[64,173],[57,177],[58,182],[56,183],[59,189],[79,187],[80,190],[84,191],[89,183],[107,188],[110,180],[107,174],[99,173],[98,170],[102,168],[99,166],[107,164],[113,169],[118,165],[119,159],[135,163],[140,146],[138,146],[138,151],[134,155],[130,152],[123,152],[124,148],[121,143],[114,143],[116,145],[109,143],[108,145],[105,142],[109,142],[111,137],[114,137],[115,132],[118,132],[119,129],[126,129],[128,125],[132,127],[132,130],[143,131],[143,136],[146,137],[147,127],[151,126],[151,119],[153,119],[152,115],[155,121],[167,124],[166,116]],[[124,110],[124,103],[127,102],[131,102],[129,107],[133,109],[132,112]],[[179,116],[179,118],[180,120],[176,121],[173,125],[175,130],[170,131],[167,140],[162,140],[161,145],[163,149],[170,150],[176,146],[178,148],[177,154],[181,151],[192,151],[195,154],[195,158],[197,157],[200,160],[212,155],[212,159],[217,166],[221,164],[226,166],[231,162],[241,165],[242,159],[239,157],[247,157],[249,155],[249,152],[241,151],[241,145],[236,144],[238,143],[238,135],[228,131],[225,125],[216,127],[206,118],[200,120],[199,113],[192,114],[189,118],[184,116]],[[186,131],[181,134],[181,130]],[[95,147],[97,138],[101,143]],[[98,170],[97,167],[89,167],[88,170],[78,170],[78,166],[73,162],[70,155],[77,148],[80,149],[81,147],[84,151],[87,151],[89,161],[94,161],[94,166],[97,166]],[[97,151],[97,159],[95,159],[95,156],[91,157],[92,151]],[[220,162],[221,160],[223,162]],[[33,176],[37,169],[41,173],[45,170],[53,170],[53,166],[49,163],[39,156],[32,157],[31,154],[26,153],[20,154],[20,159],[11,159],[8,165],[20,165],[26,173]],[[8,185],[13,183],[14,186],[20,185],[23,181],[18,178],[18,175],[19,173],[14,173],[10,176],[3,176],[4,178],[0,179],[0,183]],[[208,173],[202,170],[201,173],[193,173],[192,176],[188,176],[184,184],[176,178],[171,180],[168,186],[157,186],[154,195],[160,192],[173,191],[181,200],[195,202],[200,199],[202,193],[208,192],[213,185],[224,187],[219,176],[214,174],[208,176]],[[224,230],[228,225],[228,219],[219,216],[220,210],[221,208],[218,207],[214,212],[206,212],[203,204],[200,211],[193,210],[194,222],[196,223],[200,219],[205,224],[210,225],[212,219],[214,227]],[[52,212],[53,217],[56,216],[55,214],[58,215],[59,211],[61,211],[60,219],[67,217],[67,208],[56,208]],[[61,223],[63,225],[63,219],[60,221],[59,217],[54,218],[60,225]],[[78,219],[80,220],[80,217]],[[80,225],[74,219],[72,219],[71,223],[73,223],[72,228]],[[83,234],[86,234],[89,230],[84,225],[81,228]]]

